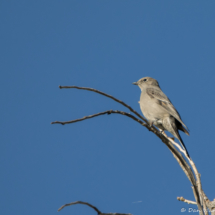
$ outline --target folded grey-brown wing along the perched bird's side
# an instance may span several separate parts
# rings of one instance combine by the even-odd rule
[[[162,92],[161,89],[147,88],[146,93],[157,100],[158,104],[168,111],[173,117],[175,117],[185,128],[187,126],[182,122],[181,117],[175,107],[172,105],[168,97]],[[188,129],[188,128],[187,128]]]

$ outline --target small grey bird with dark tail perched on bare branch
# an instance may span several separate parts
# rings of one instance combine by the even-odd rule
[[[160,89],[158,82],[153,78],[145,77],[133,84],[137,85],[142,91],[139,101],[140,109],[149,121],[150,126],[155,125],[161,131],[169,131],[180,141],[188,157],[190,157],[178,132],[178,130],[181,130],[189,135],[188,128],[182,122],[171,101]]]

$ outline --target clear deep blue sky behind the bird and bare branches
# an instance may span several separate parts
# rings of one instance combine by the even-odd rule
[[[176,199],[194,197],[167,147],[128,117],[50,124],[126,110],[59,85],[96,88],[141,113],[132,82],[144,76],[190,129],[181,136],[215,198],[214,11],[215,1],[199,0],[1,0],[1,214],[57,214],[77,200],[134,215],[193,207]],[[95,214],[79,205],[59,213]]]

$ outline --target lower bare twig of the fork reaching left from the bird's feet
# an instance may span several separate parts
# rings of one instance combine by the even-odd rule
[[[117,113],[117,114],[122,114],[124,116],[128,116],[128,117],[132,118],[133,120],[139,122],[141,125],[146,126],[146,123],[144,123],[140,119],[137,119],[135,116],[131,115],[130,113],[127,113],[127,112],[124,112],[124,111],[119,111],[119,110],[107,110],[107,111],[104,111],[104,112],[100,112],[100,113],[96,113],[96,114],[93,114],[93,115],[85,116],[85,117],[80,118],[80,119],[75,119],[75,120],[65,121],[65,122],[55,121],[55,122],[51,122],[51,124],[65,125],[65,124],[70,124],[70,123],[83,121],[85,119],[90,119],[90,118],[93,118],[93,117],[96,117],[96,116],[101,116],[101,115],[104,115],[104,114],[112,114],[112,113]]]

